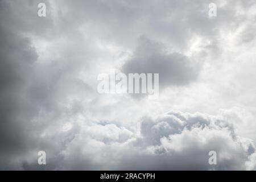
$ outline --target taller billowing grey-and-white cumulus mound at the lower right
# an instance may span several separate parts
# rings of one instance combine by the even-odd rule
[[[253,141],[238,136],[222,115],[171,111],[144,119],[139,143],[154,155],[167,155],[168,169],[248,169],[254,162]],[[216,166],[208,164],[209,151],[217,152]]]

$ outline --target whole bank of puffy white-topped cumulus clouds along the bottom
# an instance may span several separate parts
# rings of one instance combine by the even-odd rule
[[[53,162],[56,169],[253,169],[252,140],[237,135],[224,118],[170,111],[142,118],[137,131],[91,123]],[[208,163],[209,151],[217,152],[217,165]]]

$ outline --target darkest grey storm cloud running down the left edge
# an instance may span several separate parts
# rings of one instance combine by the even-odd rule
[[[37,144],[41,143],[38,133],[43,127],[31,122],[31,119],[50,100],[46,94],[47,86],[36,72],[38,54],[30,40],[11,30],[4,30],[2,26],[0,32],[0,168],[20,169],[25,156],[38,150]],[[15,160],[21,161],[15,166],[12,164]]]

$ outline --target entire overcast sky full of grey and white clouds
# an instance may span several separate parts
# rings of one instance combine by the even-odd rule
[[[0,38],[1,170],[256,169],[254,0],[0,0]],[[111,69],[159,97],[98,93]]]

